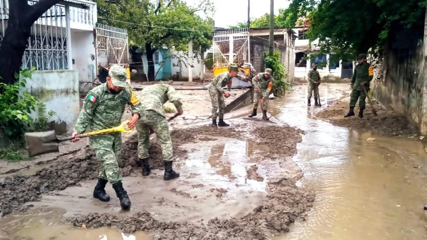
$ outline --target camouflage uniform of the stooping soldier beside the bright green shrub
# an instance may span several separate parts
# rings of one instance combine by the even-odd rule
[[[271,73],[270,73],[271,74]],[[265,77],[264,73],[259,73],[252,78],[252,84],[254,87],[260,88],[260,91],[253,91],[253,108],[257,109],[260,99],[264,98],[262,103],[263,110],[267,110],[268,107],[268,96],[270,95],[271,88],[273,88],[273,77],[270,75],[269,78]]]

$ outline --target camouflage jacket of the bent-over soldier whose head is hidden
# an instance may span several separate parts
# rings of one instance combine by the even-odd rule
[[[141,92],[143,100],[141,100],[141,111],[154,110],[162,116],[164,113],[163,104],[167,101],[172,102],[178,111],[182,111],[181,99],[172,86],[166,83],[157,83],[148,86]]]

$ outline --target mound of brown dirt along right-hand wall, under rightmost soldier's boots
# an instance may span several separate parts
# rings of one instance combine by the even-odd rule
[[[345,97],[336,101],[330,107],[318,112],[316,117],[322,118],[334,125],[346,127],[353,130],[371,131],[383,136],[409,136],[416,137],[417,130],[409,123],[408,118],[397,111],[387,109],[377,101],[374,101],[374,107],[378,116],[372,112],[371,106],[366,99],[366,108],[364,117],[357,116],[359,112],[358,103],[354,109],[355,116],[344,118],[349,111],[350,92],[346,92]]]

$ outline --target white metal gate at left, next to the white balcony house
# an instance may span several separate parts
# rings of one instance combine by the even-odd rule
[[[126,29],[98,23],[96,26],[98,67],[120,65],[129,68],[128,33]]]

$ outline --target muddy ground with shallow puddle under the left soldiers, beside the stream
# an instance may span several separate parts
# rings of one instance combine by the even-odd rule
[[[232,91],[236,92],[244,91]],[[295,185],[302,172],[291,159],[304,132],[258,118],[228,119],[232,127],[214,129],[209,119],[200,117],[210,115],[207,92],[180,94],[186,114],[171,123],[178,179],[162,180],[161,150],[154,134],[149,159],[153,171],[142,177],[137,137],[125,136],[119,167],[132,208],[123,212],[109,186],[108,203],[92,198],[100,164],[83,142],[41,162],[38,170],[16,168],[1,175],[3,220],[31,208],[61,208],[65,222],[78,228],[145,231],[151,239],[266,239],[288,231],[296,219],[304,220],[314,194]],[[127,110],[124,119],[128,117]],[[5,225],[5,231],[13,229]]]

